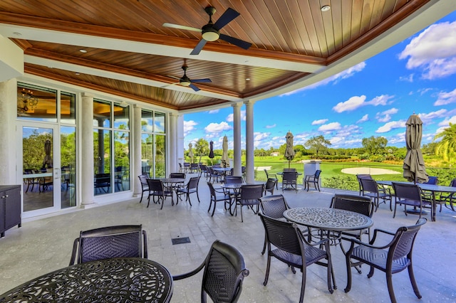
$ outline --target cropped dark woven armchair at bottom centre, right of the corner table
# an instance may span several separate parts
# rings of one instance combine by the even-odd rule
[[[172,280],[179,281],[196,275],[203,270],[201,302],[206,302],[207,295],[213,302],[237,302],[242,292],[244,277],[249,275],[244,257],[232,245],[219,240],[212,243],[207,257],[195,270],[182,275],[175,275]]]

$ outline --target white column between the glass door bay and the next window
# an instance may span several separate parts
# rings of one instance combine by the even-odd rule
[[[81,207],[93,199],[93,97],[83,94],[81,102]]]

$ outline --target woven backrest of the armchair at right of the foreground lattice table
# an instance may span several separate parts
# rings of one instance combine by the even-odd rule
[[[398,228],[393,240],[391,241],[393,244],[390,245],[390,249],[388,250],[388,260],[398,260],[405,256],[408,256],[410,259],[416,235],[418,234],[421,226],[426,222],[426,218],[420,218],[415,225]]]

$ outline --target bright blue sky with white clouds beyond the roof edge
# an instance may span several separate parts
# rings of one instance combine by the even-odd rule
[[[204,138],[222,149],[232,144],[232,107],[184,116],[185,147]],[[269,149],[294,134],[294,144],[322,134],[333,148],[362,147],[385,137],[405,147],[405,121],[423,120],[422,144],[456,123],[456,12],[331,78],[254,104],[254,146]],[[242,107],[242,149],[245,107]]]

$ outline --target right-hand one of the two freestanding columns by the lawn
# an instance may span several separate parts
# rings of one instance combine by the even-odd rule
[[[254,102],[246,101],[245,104],[245,168],[246,181],[255,181],[254,172]]]

